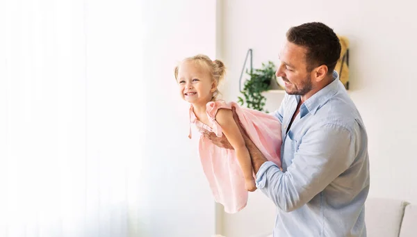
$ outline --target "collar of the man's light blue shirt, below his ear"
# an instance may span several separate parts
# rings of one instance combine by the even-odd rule
[[[318,108],[320,108],[320,106],[325,104],[331,97],[336,94],[338,91],[338,84],[338,73],[333,71],[333,81],[329,83],[329,85],[326,85],[325,88],[322,88],[316,92],[316,94],[304,101],[302,106],[304,106],[313,115],[316,114]]]

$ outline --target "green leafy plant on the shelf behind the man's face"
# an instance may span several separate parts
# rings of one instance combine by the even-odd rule
[[[243,90],[240,92],[243,97],[238,97],[238,103],[243,106],[246,104],[247,108],[252,108],[256,111],[264,111],[266,98],[262,95],[262,92],[269,90],[271,80],[275,80],[275,65],[271,61],[268,63],[262,63],[260,69],[251,70],[246,74],[250,76],[250,79],[245,81]]]

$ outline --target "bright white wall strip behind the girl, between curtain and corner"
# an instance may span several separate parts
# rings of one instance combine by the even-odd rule
[[[147,1],[144,86],[146,149],[142,163],[142,236],[211,236],[215,205],[188,139],[188,104],[182,101],[174,66],[186,56],[215,56],[215,1]],[[139,13],[138,13],[139,14]],[[196,135],[196,134],[195,134]],[[194,136],[197,138],[197,136]]]

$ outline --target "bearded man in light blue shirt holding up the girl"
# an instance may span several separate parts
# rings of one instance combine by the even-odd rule
[[[277,206],[273,236],[366,236],[368,137],[334,72],[341,45],[331,28],[317,22],[290,28],[286,38],[276,72],[286,90],[275,113],[282,124],[282,171],[240,127],[256,186]],[[224,137],[205,136],[230,147]]]

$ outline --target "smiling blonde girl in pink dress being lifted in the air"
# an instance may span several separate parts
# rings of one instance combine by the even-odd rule
[[[247,190],[253,192],[256,186],[250,154],[231,107],[236,108],[240,122],[254,144],[279,167],[281,124],[272,115],[218,100],[218,84],[224,73],[222,61],[212,61],[205,55],[185,58],[174,70],[180,95],[190,103],[190,124],[195,124],[200,132],[205,129],[219,137],[224,134],[234,147],[221,148],[202,134],[199,136],[199,156],[215,201],[222,204],[227,213],[236,213],[246,206]],[[188,137],[191,138],[191,129]]]

